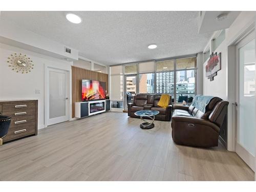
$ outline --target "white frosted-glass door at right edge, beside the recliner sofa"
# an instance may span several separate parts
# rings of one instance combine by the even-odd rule
[[[255,156],[255,36],[237,45],[236,152],[254,170]]]

